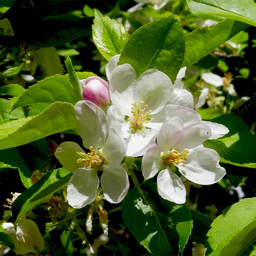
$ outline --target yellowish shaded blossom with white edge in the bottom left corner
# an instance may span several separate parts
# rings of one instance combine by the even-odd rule
[[[2,224],[15,244],[15,253],[25,255],[27,253],[38,253],[44,249],[44,239],[37,224],[30,219],[17,221],[16,230],[11,222]]]

